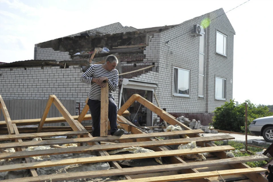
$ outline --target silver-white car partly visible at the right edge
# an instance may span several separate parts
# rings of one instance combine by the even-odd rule
[[[273,142],[273,116],[254,119],[248,129],[250,133],[264,137],[267,142]]]

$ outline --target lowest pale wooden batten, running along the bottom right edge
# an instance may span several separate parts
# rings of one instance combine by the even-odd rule
[[[210,171],[210,172],[201,172],[201,173],[190,173],[190,174],[178,174],[178,175],[169,175],[169,176],[160,176],[160,177],[149,177],[149,178],[138,178],[130,180],[120,180],[120,182],[164,182],[164,181],[178,181],[178,180],[187,180],[187,179],[200,179],[205,177],[214,177],[214,176],[226,176],[226,175],[237,175],[237,174],[248,174],[248,173],[261,173],[265,172],[266,169],[262,167],[254,167],[249,169],[229,169],[222,171]]]

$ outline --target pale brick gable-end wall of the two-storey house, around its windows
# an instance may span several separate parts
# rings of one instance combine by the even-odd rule
[[[210,16],[210,19],[222,15],[223,9],[216,10],[209,15],[203,15],[188,20],[174,28],[162,33],[154,34],[149,46],[146,47],[146,59],[144,62],[154,62],[156,68],[137,80],[158,83],[156,94],[162,108],[167,112],[177,113],[212,113],[215,107],[232,99],[233,78],[233,36],[235,34],[228,18],[223,15],[213,20],[206,29],[206,60],[205,60],[205,97],[198,98],[198,61],[199,61],[199,37],[192,37],[190,30],[194,24]],[[227,57],[217,55],[216,30],[228,36]],[[185,34],[184,34],[185,33]],[[182,36],[179,36],[184,34]],[[175,37],[178,38],[165,42]],[[173,96],[173,67],[188,69],[190,75],[190,97]],[[215,76],[227,79],[227,100],[215,100]]]

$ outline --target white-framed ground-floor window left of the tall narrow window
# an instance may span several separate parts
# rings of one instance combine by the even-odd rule
[[[190,71],[174,67],[173,95],[190,96]]]

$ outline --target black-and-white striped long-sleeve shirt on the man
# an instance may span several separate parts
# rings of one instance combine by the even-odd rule
[[[106,76],[108,78],[109,92],[108,97],[113,98],[113,92],[117,90],[119,84],[119,73],[116,69],[107,71],[102,68],[102,65],[92,65],[80,78],[80,81],[86,84],[90,84],[91,88],[88,94],[88,98],[92,100],[100,100],[101,87],[95,82],[92,83],[93,78],[100,78]]]

